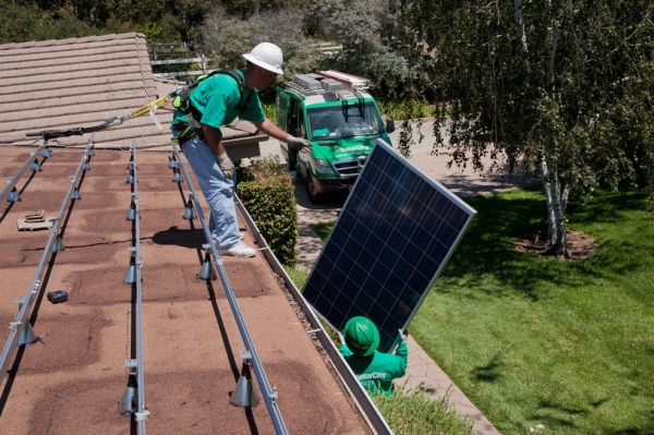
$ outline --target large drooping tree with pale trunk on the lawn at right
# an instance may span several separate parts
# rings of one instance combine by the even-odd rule
[[[415,0],[402,23],[433,52],[452,162],[506,155],[538,173],[548,241],[566,252],[570,194],[647,181],[654,161],[651,1]],[[449,145],[440,137],[447,125]],[[469,157],[472,156],[472,157]]]

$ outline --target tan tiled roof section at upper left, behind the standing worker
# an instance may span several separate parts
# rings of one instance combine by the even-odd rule
[[[69,38],[0,46],[0,143],[25,144],[25,133],[97,124],[168,94],[179,82],[155,80],[142,34]],[[160,132],[147,114],[93,136],[98,148],[165,146],[171,110],[159,110]],[[226,129],[229,137],[257,135],[252,124]],[[61,138],[86,145],[90,135]]]

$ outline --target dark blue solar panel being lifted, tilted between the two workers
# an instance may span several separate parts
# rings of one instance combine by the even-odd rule
[[[377,140],[304,286],[337,330],[353,316],[379,328],[389,352],[476,212]]]

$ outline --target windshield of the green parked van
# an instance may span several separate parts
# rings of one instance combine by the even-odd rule
[[[384,133],[384,123],[374,102],[310,108],[307,114],[312,141]]]

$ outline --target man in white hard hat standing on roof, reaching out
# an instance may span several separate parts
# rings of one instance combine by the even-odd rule
[[[203,80],[189,96],[191,116],[178,109],[171,130],[209,204],[209,231],[216,239],[218,252],[220,255],[253,257],[256,250],[240,239],[233,203],[234,165],[225,150],[220,128],[239,117],[294,149],[311,147],[311,143],[303,137],[293,137],[268,120],[256,92],[271,86],[277,75],[283,74],[281,49],[275,44],[262,43],[243,57],[247,60],[245,69],[235,71],[243,86],[237,80],[239,76],[230,74],[215,74]],[[194,121],[199,128],[189,129]]]

